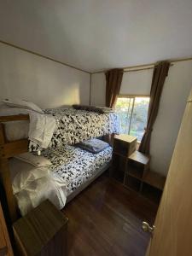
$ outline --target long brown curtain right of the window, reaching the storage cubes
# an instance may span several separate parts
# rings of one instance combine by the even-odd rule
[[[157,117],[157,113],[160,106],[160,96],[163,89],[163,85],[168,75],[170,62],[161,61],[154,67],[153,79],[150,91],[150,102],[148,107],[148,124],[145,128],[145,132],[142,138],[142,142],[138,151],[149,154],[150,152],[150,139],[153,131],[154,121]]]

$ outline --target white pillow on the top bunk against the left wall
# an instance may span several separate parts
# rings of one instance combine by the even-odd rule
[[[41,108],[39,108],[36,104],[32,102],[26,102],[20,99],[5,99],[3,100],[3,103],[5,103],[7,106],[11,108],[26,108],[32,109],[38,113],[44,113],[44,111]]]

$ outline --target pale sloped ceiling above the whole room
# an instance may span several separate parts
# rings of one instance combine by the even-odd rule
[[[0,0],[0,39],[87,71],[192,55],[192,0]]]

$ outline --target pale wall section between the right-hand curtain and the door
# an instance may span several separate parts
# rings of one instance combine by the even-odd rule
[[[157,172],[168,172],[191,87],[192,61],[177,62],[166,79],[151,137],[151,166]]]

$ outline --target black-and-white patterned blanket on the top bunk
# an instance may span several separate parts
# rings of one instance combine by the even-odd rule
[[[119,133],[119,117],[116,113],[95,113],[73,108],[50,108],[44,111],[56,119],[56,129],[49,143],[51,148],[76,144],[84,140]],[[36,143],[29,143],[30,151],[40,150]]]

